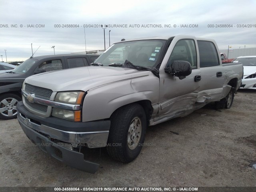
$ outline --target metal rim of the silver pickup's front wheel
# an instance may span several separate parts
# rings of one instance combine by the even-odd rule
[[[129,127],[127,142],[130,150],[134,150],[140,142],[142,123],[139,117],[135,117]]]

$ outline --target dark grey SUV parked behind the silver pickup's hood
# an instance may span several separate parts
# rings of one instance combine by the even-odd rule
[[[29,58],[16,69],[0,74],[0,118],[17,117],[16,104],[21,101],[21,87],[25,78],[42,72],[88,66],[99,55],[60,54]]]

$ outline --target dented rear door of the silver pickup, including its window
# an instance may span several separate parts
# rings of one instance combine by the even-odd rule
[[[198,102],[220,100],[223,92],[224,70],[213,42],[198,40],[201,81]]]

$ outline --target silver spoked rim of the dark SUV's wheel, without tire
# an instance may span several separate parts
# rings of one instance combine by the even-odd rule
[[[14,99],[14,98],[6,98],[3,99],[0,102],[0,113],[3,116],[6,117],[11,117],[17,114],[17,104],[18,100]]]

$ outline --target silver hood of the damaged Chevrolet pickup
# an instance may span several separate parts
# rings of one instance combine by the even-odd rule
[[[54,92],[88,91],[98,86],[149,75],[152,72],[122,67],[88,66],[33,75],[26,78],[25,82]]]

